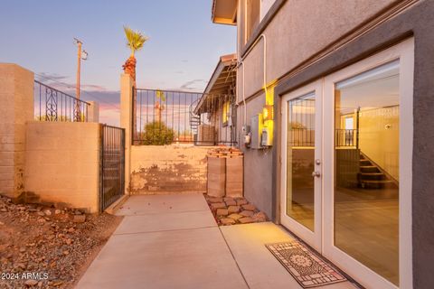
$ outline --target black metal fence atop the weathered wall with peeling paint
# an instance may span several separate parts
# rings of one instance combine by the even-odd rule
[[[235,116],[224,108],[234,98],[158,89],[135,89],[133,98],[133,144],[235,144]]]

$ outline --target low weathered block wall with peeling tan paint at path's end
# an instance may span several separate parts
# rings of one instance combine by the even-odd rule
[[[130,193],[205,192],[209,149],[186,144],[133,145]]]

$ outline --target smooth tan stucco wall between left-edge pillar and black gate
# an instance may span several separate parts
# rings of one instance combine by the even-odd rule
[[[42,201],[97,212],[99,124],[29,122],[25,191]]]

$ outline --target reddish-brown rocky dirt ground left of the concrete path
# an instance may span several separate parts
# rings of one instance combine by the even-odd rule
[[[72,288],[121,219],[0,196],[0,288]]]

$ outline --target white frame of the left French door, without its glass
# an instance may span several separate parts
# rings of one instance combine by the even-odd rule
[[[321,161],[319,165],[315,165],[316,171],[322,173],[322,149],[321,149],[321,129],[322,129],[322,80],[318,80],[308,84],[307,86],[292,91],[281,98],[282,104],[282,138],[281,138],[281,193],[280,193],[280,222],[285,227],[289,228],[299,238],[302,238],[311,247],[314,247],[318,252],[321,252],[322,243],[322,176],[315,178],[315,200],[314,200],[314,232],[305,226],[287,216],[287,133],[288,133],[288,101],[291,99],[306,96],[309,93],[315,93],[315,159]]]

